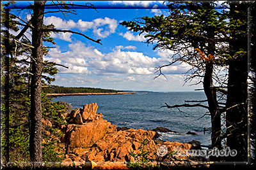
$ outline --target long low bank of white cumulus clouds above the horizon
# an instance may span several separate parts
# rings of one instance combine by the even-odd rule
[[[148,57],[144,53],[136,52],[135,46],[118,45],[112,52],[102,53],[93,46],[86,46],[81,41],[68,45],[67,52],[61,52],[60,47],[49,51],[47,60],[56,61],[68,66],[61,69],[61,73],[83,74],[152,74],[155,67],[170,62],[170,58],[159,52],[159,57]],[[127,51],[128,50],[128,51]],[[170,53],[170,52],[169,52]],[[163,69],[164,74],[181,74],[189,69],[187,65],[175,64]]]

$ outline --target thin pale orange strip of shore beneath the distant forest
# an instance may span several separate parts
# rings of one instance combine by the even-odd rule
[[[135,92],[110,92],[110,93],[54,93],[46,94],[47,97],[59,97],[59,96],[89,96],[89,95],[117,95],[117,94],[135,94]]]

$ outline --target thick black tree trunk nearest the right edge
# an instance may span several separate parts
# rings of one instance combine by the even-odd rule
[[[240,11],[238,14],[236,11]],[[230,4],[230,21],[247,21],[247,7],[243,4]],[[237,27],[237,30],[247,33],[247,24]],[[228,92],[227,92],[227,146],[231,150],[237,150],[236,161],[247,160],[248,146],[248,108],[247,108],[247,78],[248,78],[248,58],[246,54],[235,56],[236,52],[244,50],[247,52],[246,33],[232,30],[230,36],[230,55],[233,57],[229,62],[228,69]]]

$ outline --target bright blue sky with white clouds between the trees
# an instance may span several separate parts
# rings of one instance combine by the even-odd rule
[[[168,15],[163,1],[90,1],[97,11],[76,9],[69,13],[46,13],[44,24],[54,24],[57,29],[81,32],[93,39],[101,39],[99,45],[81,35],[52,33],[55,48],[49,48],[45,60],[68,66],[59,67],[53,85],[65,87],[95,87],[115,90],[148,90],[156,92],[194,91],[201,85],[184,85],[186,64],[164,67],[166,76],[157,76],[155,67],[172,62],[172,51],[153,50],[145,43],[144,34],[129,31],[119,23],[139,17]],[[28,1],[26,2],[28,3]],[[24,4],[26,4],[24,3]],[[33,2],[31,2],[33,3]],[[86,1],[73,1],[83,4]],[[22,4],[22,3],[20,3]],[[105,8],[105,9],[102,9]],[[108,9],[106,9],[108,8]],[[52,11],[52,9],[45,10]],[[19,11],[20,17],[29,19],[28,11]]]

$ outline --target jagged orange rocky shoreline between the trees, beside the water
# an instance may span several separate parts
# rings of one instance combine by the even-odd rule
[[[67,103],[61,104],[68,106]],[[198,164],[186,155],[173,155],[177,150],[187,152],[193,148],[193,143],[157,140],[157,131],[170,132],[169,129],[158,127],[153,131],[146,131],[118,128],[104,120],[102,113],[97,113],[97,103],[86,104],[76,110],[68,107],[67,113],[61,115],[67,120],[67,125],[61,129],[65,134],[60,139],[65,144],[62,166],[129,169],[129,163],[138,162],[131,153],[140,154],[143,141],[147,141],[143,150],[148,152],[147,159],[153,166],[159,162],[162,162],[162,166],[175,166],[177,163],[181,166]],[[43,125],[46,124],[47,120],[44,120]]]

